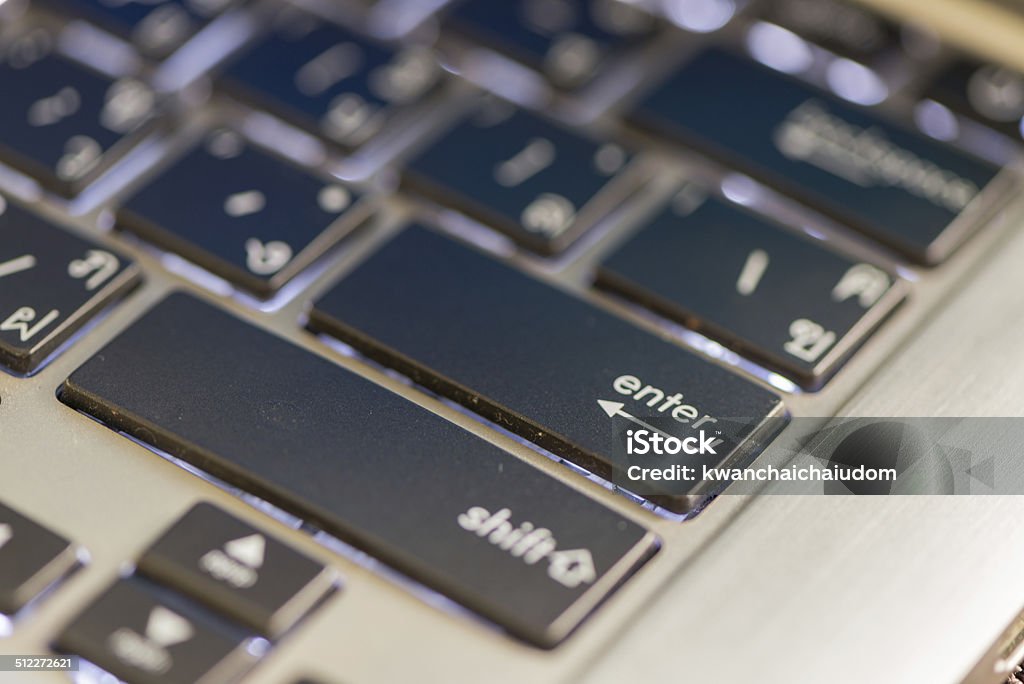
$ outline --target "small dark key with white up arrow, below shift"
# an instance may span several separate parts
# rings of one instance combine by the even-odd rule
[[[268,637],[308,612],[336,579],[323,563],[211,504],[185,513],[138,568]]]

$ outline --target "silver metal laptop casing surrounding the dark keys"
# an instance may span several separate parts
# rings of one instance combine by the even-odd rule
[[[921,3],[915,3],[921,4]],[[600,94],[600,93],[598,93]],[[227,116],[234,116],[226,108]],[[203,121],[189,122],[197,129]],[[186,130],[183,137],[189,135]],[[166,148],[170,145],[164,145]],[[159,153],[161,146],[156,151]],[[152,152],[152,151],[151,151]],[[147,153],[148,154],[148,153]],[[144,157],[144,156],[140,156]],[[327,160],[327,168],[337,160]],[[665,179],[618,212],[554,265],[515,255],[537,276],[616,310],[680,344],[728,364],[715,345],[680,333],[586,287],[597,259],[625,239],[647,202],[669,191],[689,160],[649,154]],[[668,166],[667,166],[668,165]],[[7,183],[7,187],[24,183]],[[117,178],[101,181],[116,190]],[[102,204],[97,191],[95,203]],[[780,216],[827,222],[765,196]],[[98,236],[103,214],[73,219]],[[251,300],[214,294],[195,273],[165,268],[174,260],[112,238],[146,269],[126,302],[32,378],[0,374],[0,498],[89,551],[90,560],[19,619],[6,652],[44,652],[56,631],[193,503],[217,503],[265,526],[336,567],[344,589],[278,645],[253,684],[288,684],[299,676],[345,682],[729,681],[954,682],[967,675],[1024,606],[1022,499],[886,500],[723,497],[680,523],[644,510],[588,481],[392,374],[342,353],[301,328],[307,304],[396,229],[416,204],[397,198],[375,227],[346,241],[259,310]],[[828,416],[844,404],[861,415],[988,416],[1024,413],[1024,220],[1021,202],[1001,212],[941,269],[906,270],[910,300],[817,394],[790,393],[799,416]],[[59,215],[46,205],[41,211]],[[442,219],[450,217],[441,216]],[[461,226],[459,222],[454,225]],[[465,227],[465,226],[463,226]],[[490,233],[466,228],[508,254]],[[829,232],[854,254],[864,241]],[[884,255],[874,255],[890,263]],[[182,274],[183,273],[183,274]],[[214,288],[220,287],[211,283]],[[662,553],[626,584],[578,634],[555,651],[530,648],[356,554],[342,555],[255,510],[239,498],[161,459],[59,403],[59,383],[99,346],[172,288],[202,293],[285,338],[354,370],[502,445],[570,486],[586,491],[662,537]],[[745,368],[745,367],[744,367]],[[874,371],[881,369],[877,376]],[[742,368],[739,369],[740,372]],[[764,377],[764,376],[762,376]],[[251,377],[259,391],[259,372]],[[851,401],[852,397],[852,401]],[[768,455],[770,457],[770,455]],[[729,524],[731,523],[731,524]],[[728,525],[728,526],[727,526]],[[993,678],[994,679],[997,678]],[[0,674],[0,682],[18,682]],[[67,682],[36,674],[33,682]],[[980,681],[980,680],[979,680]]]

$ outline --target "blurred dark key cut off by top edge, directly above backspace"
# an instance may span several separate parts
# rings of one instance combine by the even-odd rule
[[[846,0],[769,0],[761,16],[861,63],[900,49],[897,25]]]

